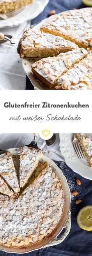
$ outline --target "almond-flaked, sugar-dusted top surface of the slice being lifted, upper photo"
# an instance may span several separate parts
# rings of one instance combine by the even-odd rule
[[[73,42],[65,40],[59,36],[51,35],[48,33],[43,33],[40,30],[34,30],[27,28],[23,33],[23,37],[21,38],[21,50],[23,52],[25,50],[29,50],[31,48],[40,48],[40,49],[54,49],[54,48],[71,48],[76,49],[78,46]]]

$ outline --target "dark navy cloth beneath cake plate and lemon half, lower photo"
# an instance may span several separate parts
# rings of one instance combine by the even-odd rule
[[[74,173],[65,162],[55,161],[62,169],[70,190],[76,190],[78,196],[71,196],[71,230],[65,240],[59,245],[47,247],[41,250],[23,254],[23,256],[92,256],[92,231],[82,230],[76,221],[76,217],[81,208],[92,205],[92,180],[85,179]],[[76,177],[81,181],[81,186],[75,182]],[[81,199],[81,203],[75,204],[75,199]],[[19,256],[1,251],[0,256]]]

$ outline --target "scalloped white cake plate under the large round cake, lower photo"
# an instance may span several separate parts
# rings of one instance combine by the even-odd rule
[[[16,166],[16,170],[18,171],[19,169],[19,154],[20,154],[20,149],[18,148],[11,148],[11,149],[6,149],[5,151],[9,151],[14,157],[14,164]],[[0,154],[4,153],[4,151],[0,151]],[[55,173],[57,174],[57,177],[61,180],[62,183],[62,188],[64,190],[64,195],[65,195],[65,204],[64,204],[64,210],[62,213],[62,216],[60,218],[60,221],[57,224],[57,227],[53,230],[52,236],[48,236],[47,238],[43,239],[41,242],[35,244],[35,245],[30,245],[25,248],[9,248],[5,247],[3,245],[0,245],[0,250],[4,250],[5,252],[13,252],[13,253],[26,253],[26,252],[31,252],[33,250],[38,250],[41,248],[46,248],[49,246],[57,245],[59,243],[62,243],[66,236],[70,232],[71,228],[71,212],[70,212],[70,203],[71,203],[71,193],[69,190],[69,186],[67,184],[67,180],[62,173],[61,169],[58,168],[58,166],[48,157],[42,156],[41,160],[47,161],[55,170]],[[30,182],[30,181],[29,181]],[[58,235],[62,232],[62,230],[65,228],[64,233],[59,236]]]

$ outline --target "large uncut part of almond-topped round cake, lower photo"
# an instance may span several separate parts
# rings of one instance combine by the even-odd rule
[[[48,236],[64,207],[60,180],[48,165],[14,201],[0,195],[0,244],[28,246]]]

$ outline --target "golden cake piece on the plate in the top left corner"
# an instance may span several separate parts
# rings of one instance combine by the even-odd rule
[[[32,2],[33,0],[0,0],[0,13],[9,13]]]

